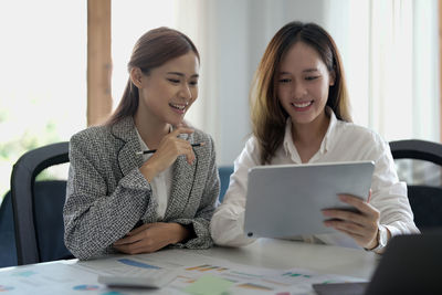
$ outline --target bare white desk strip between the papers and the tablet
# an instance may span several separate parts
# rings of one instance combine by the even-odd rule
[[[199,253],[253,266],[308,268],[365,280],[370,278],[379,259],[375,253],[357,249],[273,239],[259,239],[239,249],[212,247]]]

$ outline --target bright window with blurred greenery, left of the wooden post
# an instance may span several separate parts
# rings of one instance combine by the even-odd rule
[[[0,2],[0,200],[22,154],[86,127],[86,15],[85,1]]]

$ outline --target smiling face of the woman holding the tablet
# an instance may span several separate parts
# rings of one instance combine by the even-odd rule
[[[294,126],[325,118],[334,76],[315,49],[302,41],[296,42],[281,61],[276,75],[277,97]]]

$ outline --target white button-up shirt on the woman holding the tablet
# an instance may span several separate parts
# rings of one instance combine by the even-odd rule
[[[368,128],[338,120],[330,108],[327,110],[330,115],[327,133],[319,150],[308,162],[373,161],[370,204],[380,211],[379,226],[386,226],[392,236],[419,232],[407,197],[407,185],[398,179],[388,143]],[[286,164],[302,164],[292,140],[290,117],[286,122],[283,145],[276,150],[271,161],[271,165]],[[244,234],[243,226],[248,170],[259,165],[261,165],[259,144],[252,136],[234,161],[234,172],[230,178],[229,189],[210,223],[212,239],[217,244],[241,246],[255,240]],[[317,234],[298,239],[311,243],[359,247],[350,236],[344,233]]]

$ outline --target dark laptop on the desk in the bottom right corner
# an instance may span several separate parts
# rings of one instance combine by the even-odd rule
[[[393,236],[369,283],[314,284],[318,295],[442,294],[442,231]]]

